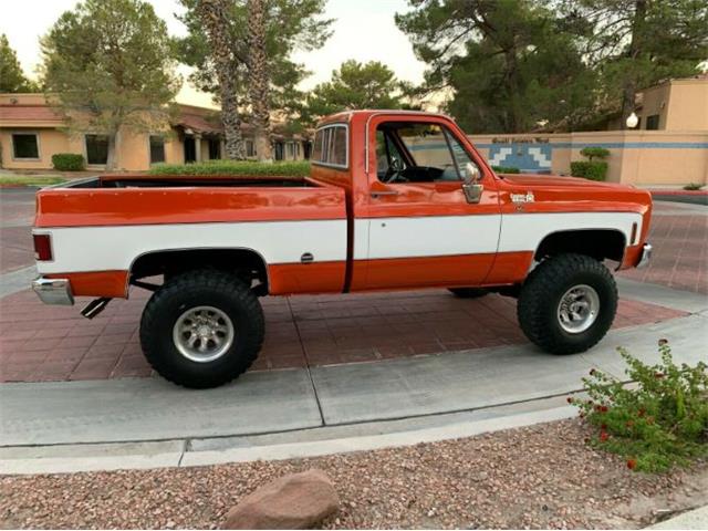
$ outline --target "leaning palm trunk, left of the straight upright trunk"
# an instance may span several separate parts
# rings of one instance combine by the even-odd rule
[[[197,13],[205,27],[211,48],[211,59],[219,79],[221,97],[221,123],[226,138],[226,157],[244,159],[243,137],[241,134],[241,116],[236,93],[238,83],[238,62],[232,56],[229,39],[230,0],[200,0]]]

